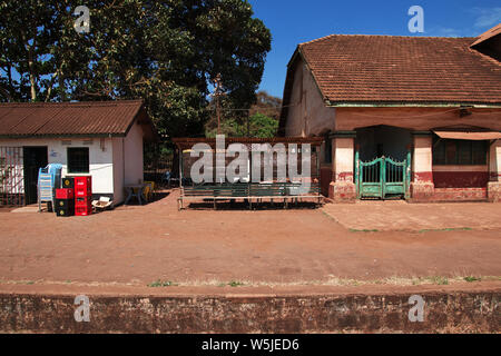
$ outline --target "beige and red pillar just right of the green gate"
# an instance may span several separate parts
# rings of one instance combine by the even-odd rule
[[[414,134],[412,155],[411,199],[430,200],[435,190],[433,184],[433,136]]]

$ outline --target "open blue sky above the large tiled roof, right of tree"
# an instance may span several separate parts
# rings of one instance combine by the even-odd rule
[[[301,42],[332,33],[477,37],[501,22],[500,0],[248,0],[272,31],[259,90],[282,97],[287,63]],[[411,33],[412,6],[424,11],[424,32]]]

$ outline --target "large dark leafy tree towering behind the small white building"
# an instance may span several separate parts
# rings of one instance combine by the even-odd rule
[[[271,33],[246,0],[0,1],[0,100],[143,98],[160,134],[204,134],[210,80],[254,102]]]

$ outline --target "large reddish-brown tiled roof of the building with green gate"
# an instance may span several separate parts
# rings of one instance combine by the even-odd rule
[[[501,63],[474,41],[333,34],[298,52],[332,103],[501,103]]]

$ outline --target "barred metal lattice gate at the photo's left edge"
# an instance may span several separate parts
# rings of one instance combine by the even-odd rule
[[[23,206],[22,147],[0,147],[0,206]]]

